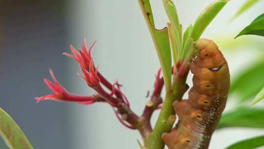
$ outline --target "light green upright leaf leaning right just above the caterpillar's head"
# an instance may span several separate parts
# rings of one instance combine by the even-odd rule
[[[217,16],[220,10],[229,0],[216,0],[209,4],[198,16],[195,21],[192,38],[197,41],[205,28],[212,22],[212,20]]]

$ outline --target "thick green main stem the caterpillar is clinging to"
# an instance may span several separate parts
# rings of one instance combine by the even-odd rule
[[[149,135],[147,146],[145,145],[148,149],[164,149],[164,142],[161,139],[161,135],[164,132],[169,132],[174,124],[174,121],[169,119],[170,116],[175,115],[172,104],[176,100],[181,100],[183,94],[188,89],[188,86],[185,83],[185,76],[177,76],[175,80],[176,81],[173,88],[175,88],[176,90],[166,94],[162,109],[159,113],[158,120],[154,126],[152,133],[150,133]]]

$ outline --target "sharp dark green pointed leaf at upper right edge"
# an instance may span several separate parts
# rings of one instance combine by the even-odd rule
[[[264,13],[258,16],[250,25],[246,26],[235,38],[242,35],[264,36]]]

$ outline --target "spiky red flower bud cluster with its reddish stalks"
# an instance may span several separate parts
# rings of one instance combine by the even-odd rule
[[[48,86],[48,88],[53,92],[53,94],[38,97],[36,98],[37,102],[40,102],[45,99],[77,102],[79,104],[85,105],[92,104],[95,102],[107,102],[112,106],[118,120],[122,124],[131,129],[135,129],[134,126],[126,124],[124,118],[122,119],[123,115],[126,115],[126,113],[130,112],[130,103],[127,97],[121,92],[118,81],[111,84],[103,75],[98,72],[98,67],[94,66],[93,58],[91,56],[91,50],[93,49],[95,43],[96,41],[94,41],[94,43],[88,50],[86,46],[86,40],[84,40],[82,49],[79,49],[78,51],[75,50],[72,45],[70,45],[70,49],[73,55],[66,52],[63,53],[63,55],[73,58],[79,63],[83,75],[78,75],[83,78],[87,82],[88,86],[94,91],[96,91],[97,94],[93,96],[79,96],[68,93],[66,89],[62,85],[60,85],[60,83],[55,78],[55,75],[53,74],[52,70],[50,69],[49,72],[54,83],[47,79],[44,79],[44,82]],[[102,85],[105,86],[109,91],[106,91]]]

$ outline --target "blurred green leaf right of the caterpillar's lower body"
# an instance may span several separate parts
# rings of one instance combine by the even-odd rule
[[[252,127],[264,128],[264,109],[240,107],[223,113],[218,128]]]

